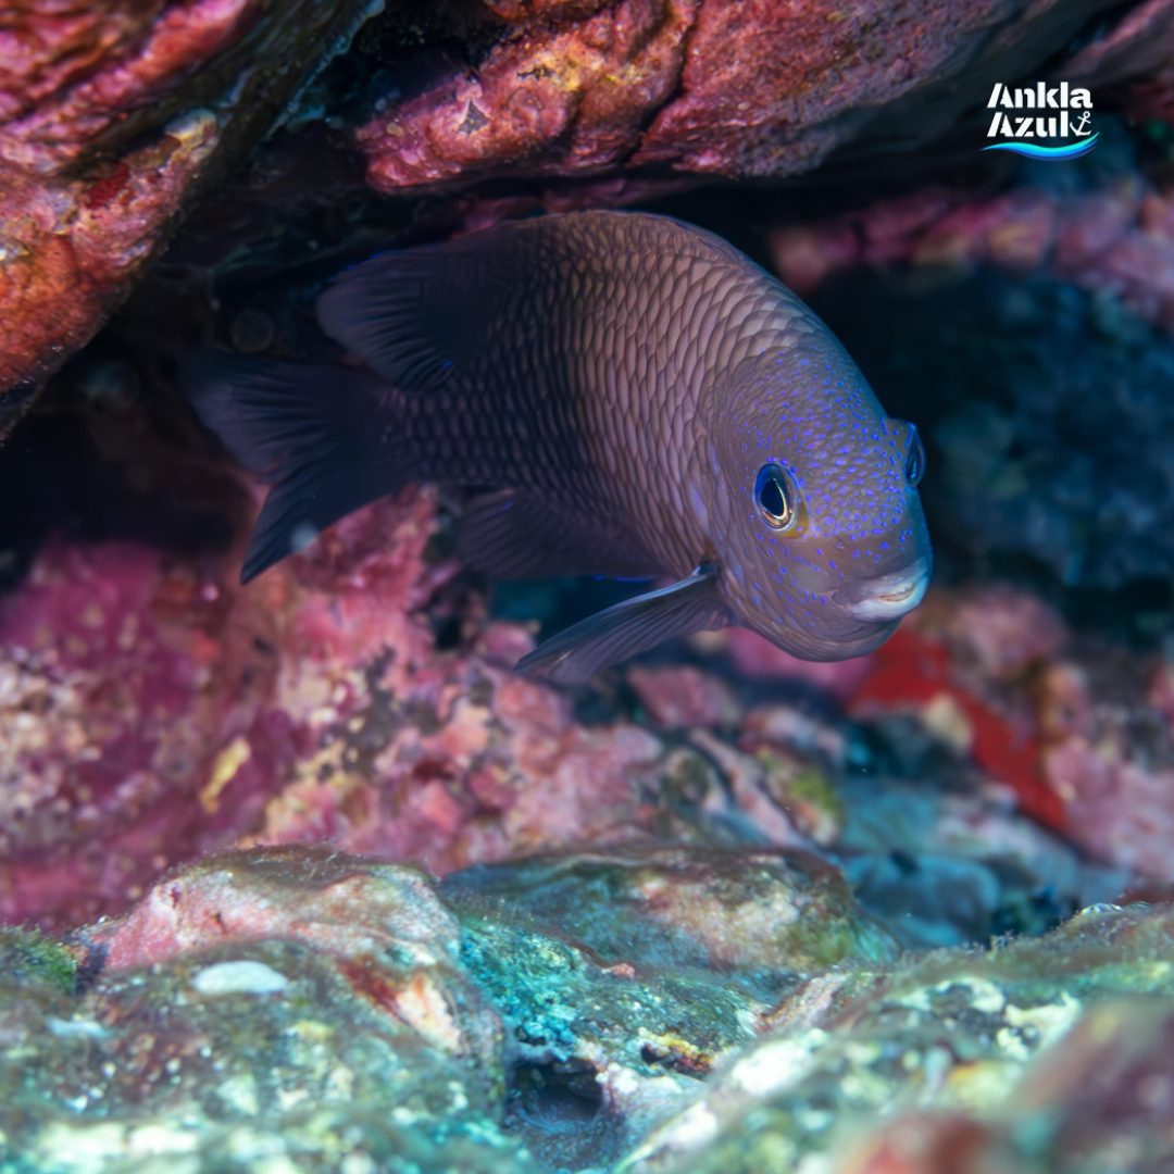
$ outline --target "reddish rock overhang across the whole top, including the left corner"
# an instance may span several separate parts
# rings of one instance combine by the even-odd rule
[[[304,203],[360,185],[359,161],[385,195],[606,176],[589,198],[616,202],[680,177],[784,177],[838,151],[923,147],[992,81],[1050,60],[1161,116],[1174,6],[1101,21],[1113,7],[18,5],[0,66],[0,427],[275,122],[302,158]],[[1091,21],[1092,43],[1073,40]]]

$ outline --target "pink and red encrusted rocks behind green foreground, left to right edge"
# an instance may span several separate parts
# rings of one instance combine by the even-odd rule
[[[360,511],[247,588],[231,558],[46,547],[0,602],[0,916],[116,912],[230,844],[326,842],[447,872],[703,839],[731,818],[774,844],[836,842],[842,724],[747,706],[689,666],[628,672],[642,722],[583,723],[511,670],[533,643],[520,626],[467,618],[463,646],[438,648],[429,608],[457,568],[425,558],[434,511],[424,491]],[[1089,683],[1139,668],[1149,697],[1126,716]],[[1028,812],[1165,878],[1167,674],[1077,655],[1046,608],[996,589],[931,596],[832,695],[861,718],[915,715]],[[787,677],[819,686],[797,662],[760,680]]]

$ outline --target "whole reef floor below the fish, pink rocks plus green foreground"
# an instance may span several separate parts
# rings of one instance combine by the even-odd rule
[[[1174,1158],[1168,662],[943,586],[865,661],[575,699],[441,527],[243,589],[53,545],[0,602],[13,1168]]]

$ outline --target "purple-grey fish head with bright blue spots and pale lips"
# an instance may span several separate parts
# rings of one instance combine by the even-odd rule
[[[872,652],[932,571],[916,427],[822,325],[740,364],[715,402],[710,541],[735,622],[804,660]]]

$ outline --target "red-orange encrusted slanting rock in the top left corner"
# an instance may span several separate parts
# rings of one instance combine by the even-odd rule
[[[18,4],[0,29],[0,390],[124,297],[189,191],[272,123],[351,5]],[[284,67],[258,62],[271,54]],[[0,402],[0,407],[2,407]]]

